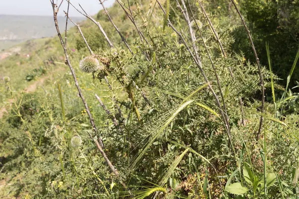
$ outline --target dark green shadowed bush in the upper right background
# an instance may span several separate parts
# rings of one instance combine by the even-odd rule
[[[298,0],[242,0],[242,11],[252,32],[261,63],[268,65],[266,42],[270,44],[274,73],[281,84],[286,84],[299,47],[299,1]],[[254,60],[247,34],[243,27],[235,30],[235,51],[242,50]],[[291,86],[296,86],[299,68],[295,69]]]

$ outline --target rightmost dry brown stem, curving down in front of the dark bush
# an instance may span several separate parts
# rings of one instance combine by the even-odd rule
[[[259,130],[258,130],[258,133],[257,133],[257,136],[256,136],[256,140],[259,140],[260,138],[260,134],[261,134],[261,130],[262,130],[262,126],[263,126],[263,115],[264,115],[264,111],[265,111],[265,87],[264,87],[264,81],[263,81],[263,74],[262,74],[262,69],[261,69],[261,66],[260,66],[260,60],[259,60],[259,57],[258,57],[258,54],[257,54],[257,51],[255,49],[255,46],[254,46],[254,43],[253,43],[253,40],[252,40],[252,36],[250,34],[250,31],[245,23],[245,20],[240,12],[240,10],[238,9],[236,3],[234,0],[231,0],[233,5],[235,6],[235,9],[237,10],[242,22],[243,22],[243,25],[246,29],[246,32],[247,32],[247,35],[249,37],[249,40],[250,40],[250,43],[251,43],[251,47],[252,47],[252,50],[253,50],[253,53],[254,53],[254,56],[255,56],[255,59],[256,59],[256,63],[257,63],[257,66],[258,66],[258,70],[259,70],[259,77],[260,77],[260,84],[261,84],[261,90],[262,90],[262,106],[261,106],[261,119],[260,119],[260,126],[259,126]]]

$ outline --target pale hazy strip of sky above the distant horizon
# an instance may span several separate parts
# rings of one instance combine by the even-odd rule
[[[115,0],[106,0],[105,5],[110,6]],[[56,2],[56,0],[54,0]],[[60,3],[61,0],[58,0]],[[102,5],[99,0],[70,0],[77,8],[78,3],[84,10],[90,14],[96,14]],[[64,16],[63,10],[67,10],[67,0],[64,0],[59,11],[59,15]],[[50,0],[0,0],[0,14],[13,14],[13,15],[52,15],[53,10]],[[71,5],[69,10],[70,16],[82,16]]]

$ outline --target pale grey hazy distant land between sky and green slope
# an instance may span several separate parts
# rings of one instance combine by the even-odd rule
[[[75,22],[84,17],[72,17]],[[64,31],[66,17],[58,16],[61,31]],[[68,27],[72,27],[71,22]],[[30,39],[56,35],[53,16],[0,15],[0,50],[10,48]]]

